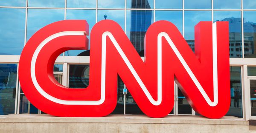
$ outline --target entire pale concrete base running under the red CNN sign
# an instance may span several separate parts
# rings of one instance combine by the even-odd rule
[[[1,133],[249,133],[249,122],[234,116],[109,115],[106,117],[55,117],[48,114],[0,116]]]

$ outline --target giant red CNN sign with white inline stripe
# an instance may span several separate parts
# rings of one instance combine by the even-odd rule
[[[154,22],[145,35],[143,61],[116,22],[100,21],[90,33],[89,86],[62,86],[53,76],[54,62],[64,51],[87,50],[88,34],[85,20],[64,20],[29,39],[20,56],[19,79],[35,107],[54,116],[106,116],[116,107],[119,75],[150,117],[172,111],[174,80],[199,114],[221,118],[229,110],[228,22],[199,22],[195,53],[175,25]]]

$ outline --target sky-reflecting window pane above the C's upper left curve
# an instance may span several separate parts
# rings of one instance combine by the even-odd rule
[[[36,31],[44,26],[60,20],[64,20],[62,9],[28,9],[26,40],[28,41]]]

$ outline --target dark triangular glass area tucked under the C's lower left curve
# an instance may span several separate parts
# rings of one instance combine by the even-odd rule
[[[38,114],[38,109],[29,102],[24,94],[20,94],[20,114]]]

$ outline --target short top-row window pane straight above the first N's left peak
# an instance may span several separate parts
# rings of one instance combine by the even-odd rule
[[[125,8],[125,0],[98,0],[98,8]]]

